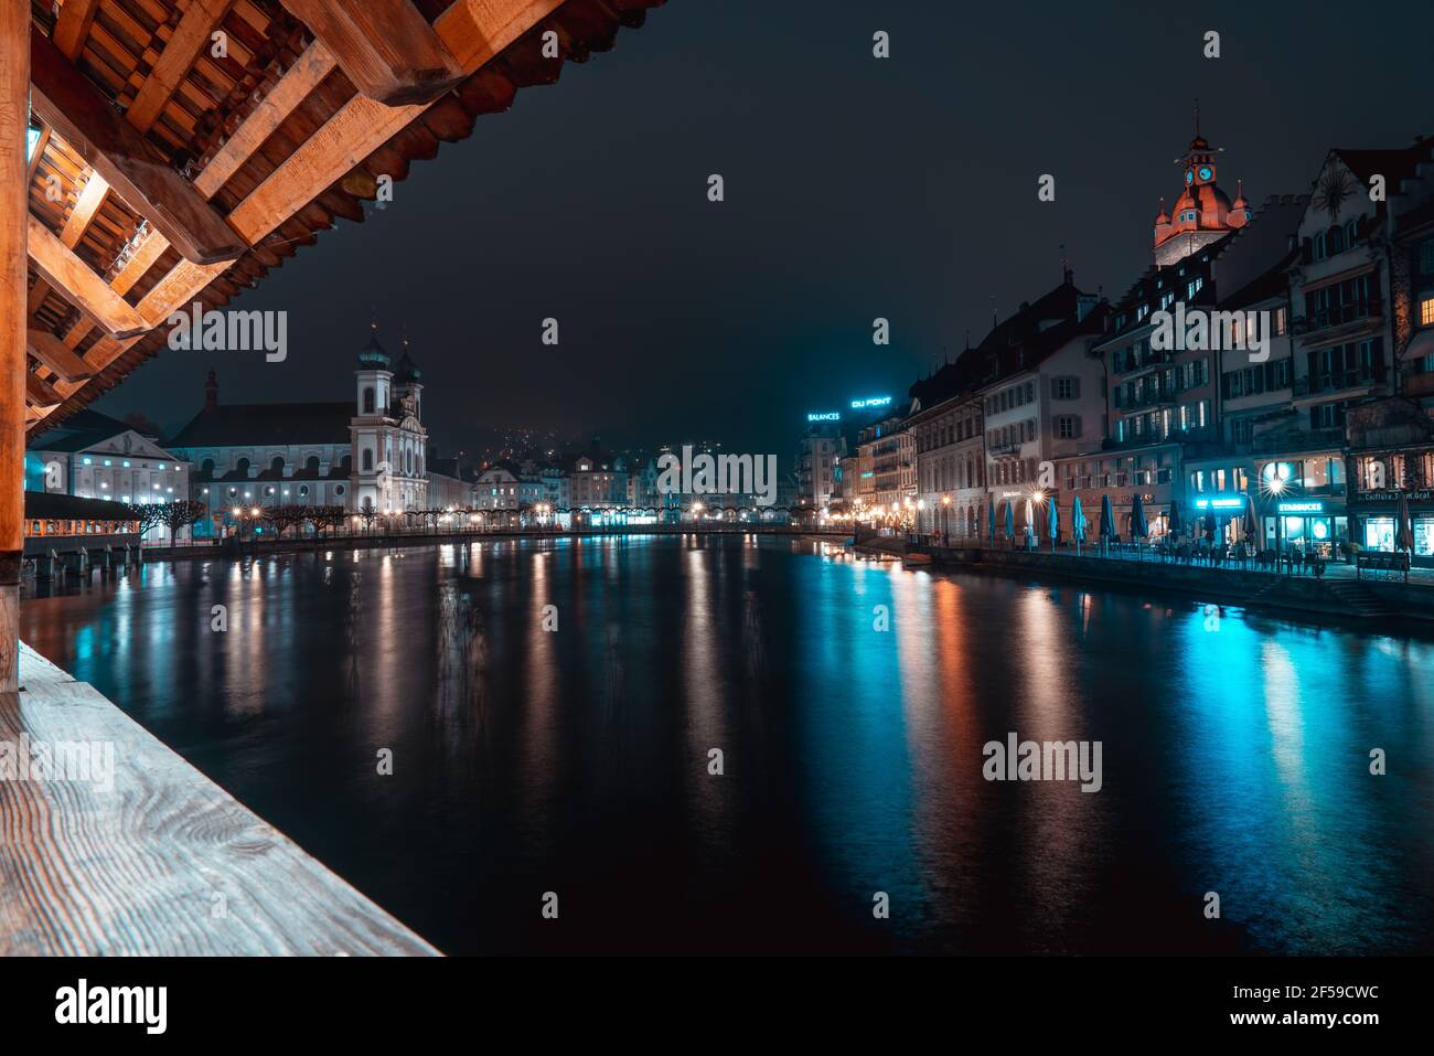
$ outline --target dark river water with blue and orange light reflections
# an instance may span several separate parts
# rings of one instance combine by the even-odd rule
[[[1431,948],[1421,640],[697,537],[156,564],[22,621],[455,953]],[[1010,732],[1104,788],[984,781]]]

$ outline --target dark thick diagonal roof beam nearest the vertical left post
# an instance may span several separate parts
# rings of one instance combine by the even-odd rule
[[[165,164],[143,136],[60,50],[30,30],[34,109],[105,179],[146,217],[185,258],[199,264],[234,260],[247,248],[194,185]]]

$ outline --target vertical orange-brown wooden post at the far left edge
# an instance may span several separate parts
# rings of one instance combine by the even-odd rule
[[[30,4],[0,3],[0,693],[20,689]]]

